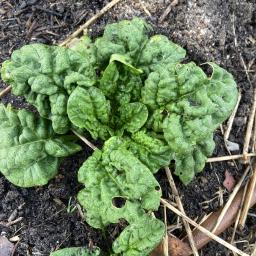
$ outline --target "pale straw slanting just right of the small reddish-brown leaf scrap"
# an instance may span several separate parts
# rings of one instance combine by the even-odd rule
[[[239,189],[241,188],[244,179],[246,178],[247,174],[250,171],[251,166],[248,166],[243,174],[243,176],[241,177],[241,179],[239,180],[239,182],[237,183],[237,185],[235,186],[233,192],[231,193],[231,195],[229,196],[229,199],[227,201],[227,203],[225,204],[225,206],[223,207],[221,214],[219,215],[216,225],[214,226],[214,228],[212,229],[212,233],[215,233],[217,228],[219,227],[220,223],[222,222],[224,216],[227,213],[227,210],[229,209],[230,205],[232,204],[236,194],[238,193]]]

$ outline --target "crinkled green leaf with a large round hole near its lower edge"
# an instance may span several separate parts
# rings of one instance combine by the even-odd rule
[[[103,151],[95,151],[78,173],[86,185],[78,199],[86,209],[86,221],[95,228],[125,219],[129,223],[144,216],[144,210],[159,207],[161,191],[150,170],[130,151],[120,147],[122,140],[112,137]],[[118,208],[115,198],[125,204]]]

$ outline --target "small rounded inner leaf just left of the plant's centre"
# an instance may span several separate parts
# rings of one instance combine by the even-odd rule
[[[110,102],[100,89],[77,87],[69,97],[67,112],[71,122],[94,139],[109,137]]]

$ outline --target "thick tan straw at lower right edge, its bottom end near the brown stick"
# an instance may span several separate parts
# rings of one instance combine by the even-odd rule
[[[248,187],[246,190],[246,197],[244,200],[244,204],[243,204],[242,211],[241,211],[241,216],[239,219],[239,228],[241,228],[241,229],[244,228],[245,221],[247,219],[247,215],[248,215],[248,211],[250,209],[255,186],[256,186],[256,164],[254,163],[252,177],[250,178],[249,183],[248,183]]]

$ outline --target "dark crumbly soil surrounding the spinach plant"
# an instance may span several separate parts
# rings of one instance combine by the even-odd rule
[[[26,43],[56,44],[64,40],[107,2],[0,1],[0,64],[14,49]],[[170,2],[123,0],[98,19],[90,27],[89,33],[95,37],[102,33],[107,23],[133,16],[144,17],[152,24],[154,34],[164,34],[186,48],[188,60],[198,64],[214,61],[229,70],[242,93],[229,140],[240,146],[239,151],[232,153],[241,153],[256,82],[256,4],[253,0],[180,0],[160,23],[159,18]],[[0,82],[0,87],[5,86]],[[2,102],[18,108],[31,108],[22,97],[11,94],[5,96]],[[227,155],[220,130],[215,133],[215,142],[214,156]],[[120,226],[113,225],[104,233],[92,229],[82,221],[76,205],[75,196],[81,189],[76,180],[77,170],[90,154],[91,151],[85,147],[82,153],[67,158],[62,163],[59,175],[43,187],[17,188],[0,174],[0,233],[9,239],[15,236],[21,239],[14,255],[49,255],[51,251],[68,246],[96,245],[106,249],[111,245]],[[236,165],[233,162],[207,164],[205,170],[188,186],[175,180],[189,217],[201,219],[227,200],[229,193],[222,185],[225,171],[228,170],[238,180],[245,169],[238,161]],[[163,197],[169,198],[170,189],[164,171],[160,171],[157,177]],[[255,208],[250,213],[245,231],[238,233],[235,239],[240,241],[237,246],[249,254],[256,242]],[[163,216],[163,210],[160,208],[156,215]],[[6,226],[10,216],[13,220],[21,218],[18,223]],[[177,218],[168,212],[168,224],[173,223],[177,223]],[[173,234],[182,237],[184,230],[176,229]],[[229,241],[231,234],[232,228],[222,237]],[[201,255],[208,256],[229,253],[215,242],[209,243],[201,251]]]

